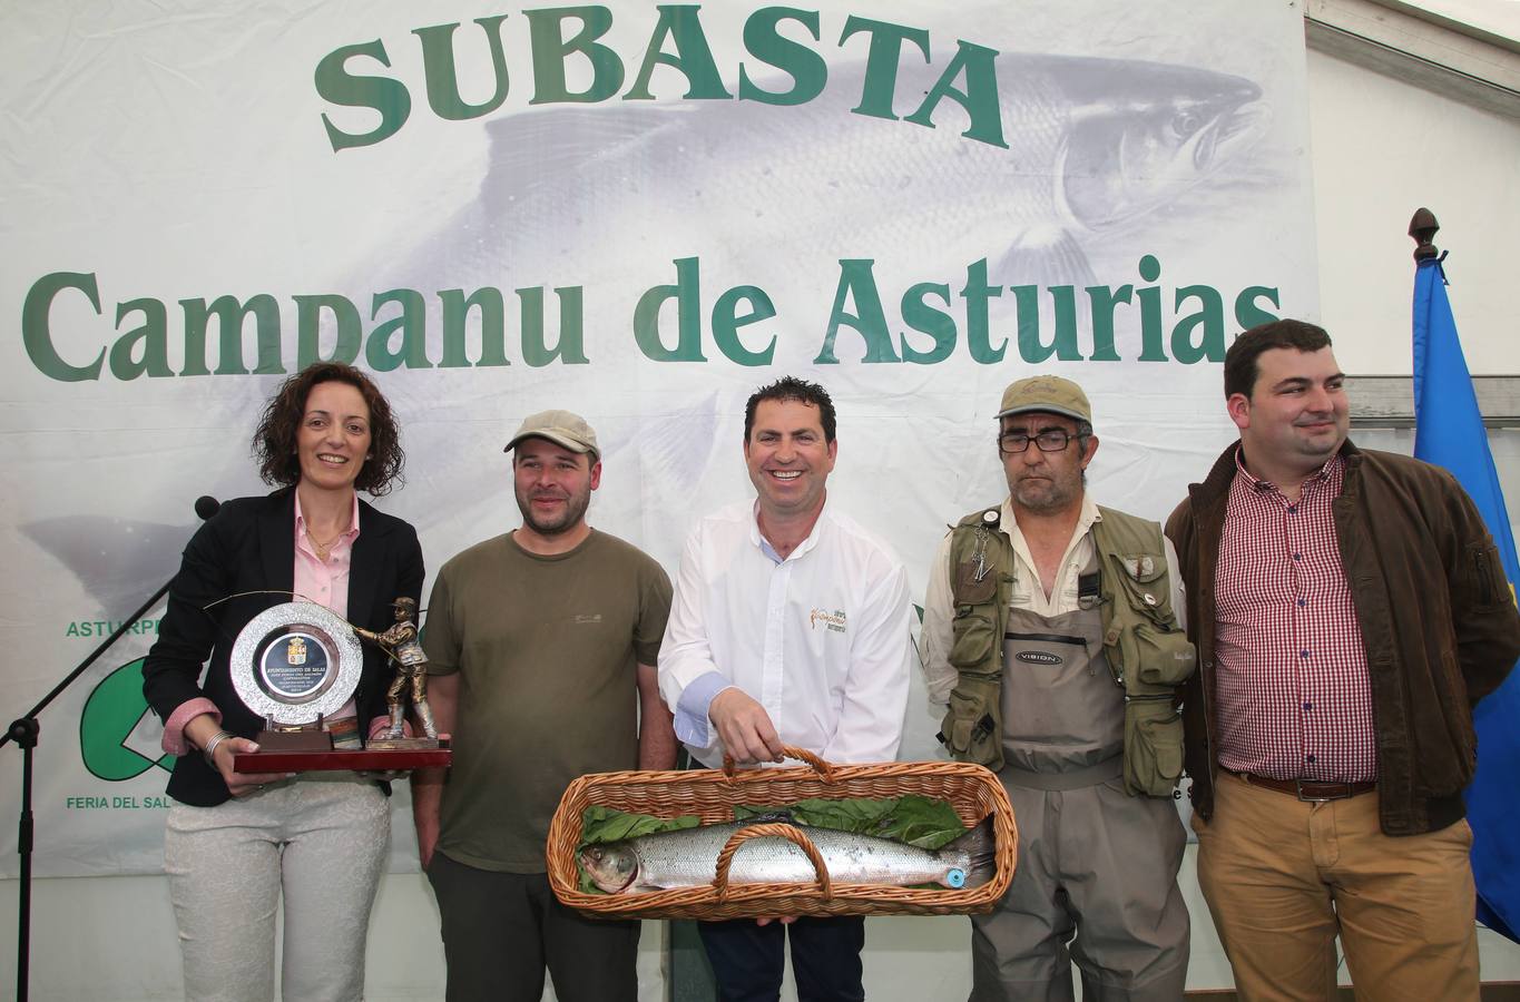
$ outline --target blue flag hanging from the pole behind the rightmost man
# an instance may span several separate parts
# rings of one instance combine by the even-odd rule
[[[1441,255],[1444,260],[1446,255]],[[1499,488],[1494,456],[1473,377],[1456,338],[1452,303],[1446,298],[1441,260],[1415,269],[1415,456],[1446,467],[1477,505],[1499,546],[1509,588],[1520,581],[1509,512]],[[1477,920],[1520,943],[1520,672],[1490,693],[1473,712],[1477,728],[1477,775],[1467,788],[1467,818],[1473,826],[1473,879]]]

